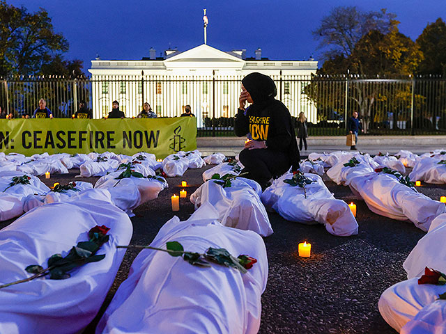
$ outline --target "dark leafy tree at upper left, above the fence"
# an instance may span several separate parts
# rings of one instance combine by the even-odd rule
[[[54,32],[51,18],[45,9],[28,13],[0,0],[0,75],[42,74],[68,51],[63,35]],[[76,61],[75,61],[76,62]],[[78,62],[78,61],[77,61]]]

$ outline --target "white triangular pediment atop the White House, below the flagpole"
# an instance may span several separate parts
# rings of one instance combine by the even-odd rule
[[[229,54],[215,47],[209,45],[199,45],[193,49],[181,52],[167,58],[164,61],[164,65],[169,68],[181,68],[181,67],[233,67],[242,68],[245,65],[245,61],[236,56],[235,54]]]

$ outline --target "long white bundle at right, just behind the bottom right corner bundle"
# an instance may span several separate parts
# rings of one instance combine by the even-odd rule
[[[446,212],[443,203],[401,184],[394,175],[369,173],[351,178],[349,185],[371,211],[400,221],[408,219],[423,231],[429,230],[433,218]]]

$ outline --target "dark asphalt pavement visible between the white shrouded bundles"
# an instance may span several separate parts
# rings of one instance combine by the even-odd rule
[[[210,167],[207,167],[210,168]],[[159,198],[134,210],[132,244],[150,244],[171,212],[170,196],[178,193],[181,180],[187,180],[188,196],[202,183],[206,168],[187,170],[183,177],[169,178],[169,189]],[[66,183],[75,180],[78,170],[68,175],[52,175],[43,182]],[[94,183],[98,177],[86,180]],[[378,299],[390,285],[405,279],[402,263],[424,232],[415,225],[378,216],[348,187],[337,186],[324,175],[325,184],[336,198],[357,204],[360,232],[355,237],[334,237],[323,225],[302,225],[269,214],[275,231],[264,238],[268,250],[269,276],[262,296],[259,333],[396,333],[380,317]],[[423,185],[431,198],[446,195],[445,185]],[[194,212],[192,203],[180,200],[178,216],[184,220]],[[0,224],[0,228],[10,223]],[[299,242],[312,244],[312,257],[300,258]],[[94,333],[95,324],[112,300],[118,285],[128,276],[137,250],[128,250],[112,289],[98,317],[84,333]]]

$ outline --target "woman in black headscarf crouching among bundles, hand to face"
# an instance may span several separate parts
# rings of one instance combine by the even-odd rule
[[[266,189],[273,178],[299,168],[300,154],[293,122],[286,106],[275,100],[277,88],[270,77],[257,72],[242,80],[242,93],[234,130],[247,136],[240,162],[245,177],[259,182]],[[245,103],[252,103],[245,109]]]

